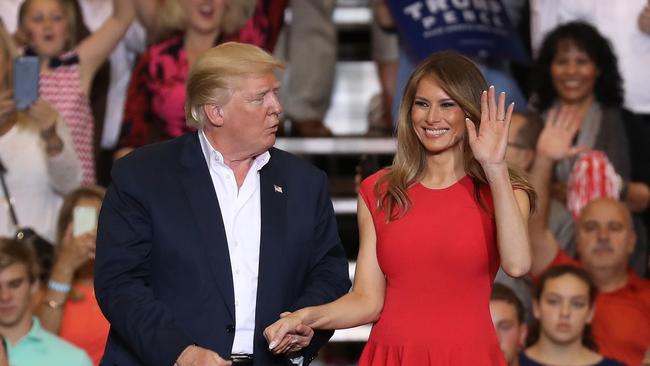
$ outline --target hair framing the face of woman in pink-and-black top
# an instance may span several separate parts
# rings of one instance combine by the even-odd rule
[[[183,0],[163,0],[156,13],[155,39],[162,41],[174,32],[184,31],[187,26],[187,14],[183,10]],[[219,30],[224,35],[239,31],[255,12],[256,0],[225,0],[221,26]]]

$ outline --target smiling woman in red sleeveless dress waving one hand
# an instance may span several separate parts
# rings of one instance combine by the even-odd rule
[[[278,353],[298,326],[373,322],[360,365],[505,365],[490,320],[499,265],[531,264],[535,194],[505,163],[513,104],[455,52],[431,55],[400,106],[393,164],[360,187],[354,286],[322,306],[284,313],[265,331]]]

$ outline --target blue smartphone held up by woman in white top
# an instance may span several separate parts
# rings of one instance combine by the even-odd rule
[[[38,98],[39,74],[38,57],[21,56],[14,59],[14,101],[17,109],[29,108]]]

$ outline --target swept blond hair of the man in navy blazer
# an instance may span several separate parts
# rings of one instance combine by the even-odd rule
[[[227,42],[207,50],[192,65],[187,78],[187,124],[202,129],[207,118],[203,105],[228,103],[242,78],[283,68],[280,60],[250,44]]]

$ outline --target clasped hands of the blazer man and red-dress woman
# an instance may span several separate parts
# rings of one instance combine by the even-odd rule
[[[269,350],[274,354],[297,352],[307,347],[314,336],[314,330],[302,324],[295,313],[280,314],[280,320],[264,330]]]

